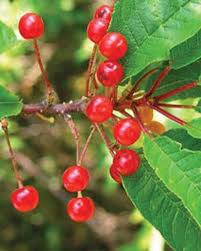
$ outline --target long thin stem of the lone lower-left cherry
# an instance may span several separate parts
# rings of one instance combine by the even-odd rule
[[[9,133],[8,133],[8,122],[7,122],[6,119],[1,120],[1,128],[2,128],[2,130],[4,132],[6,143],[8,145],[8,149],[9,149],[9,153],[10,153],[10,159],[11,159],[11,163],[12,163],[13,170],[14,170],[14,173],[15,173],[15,178],[16,178],[17,183],[18,183],[18,187],[19,188],[23,187],[22,178],[21,178],[21,176],[19,174],[19,167],[17,165],[16,156],[15,156],[15,153],[13,151],[13,148],[12,148],[12,145],[11,145],[11,142],[10,142]]]

